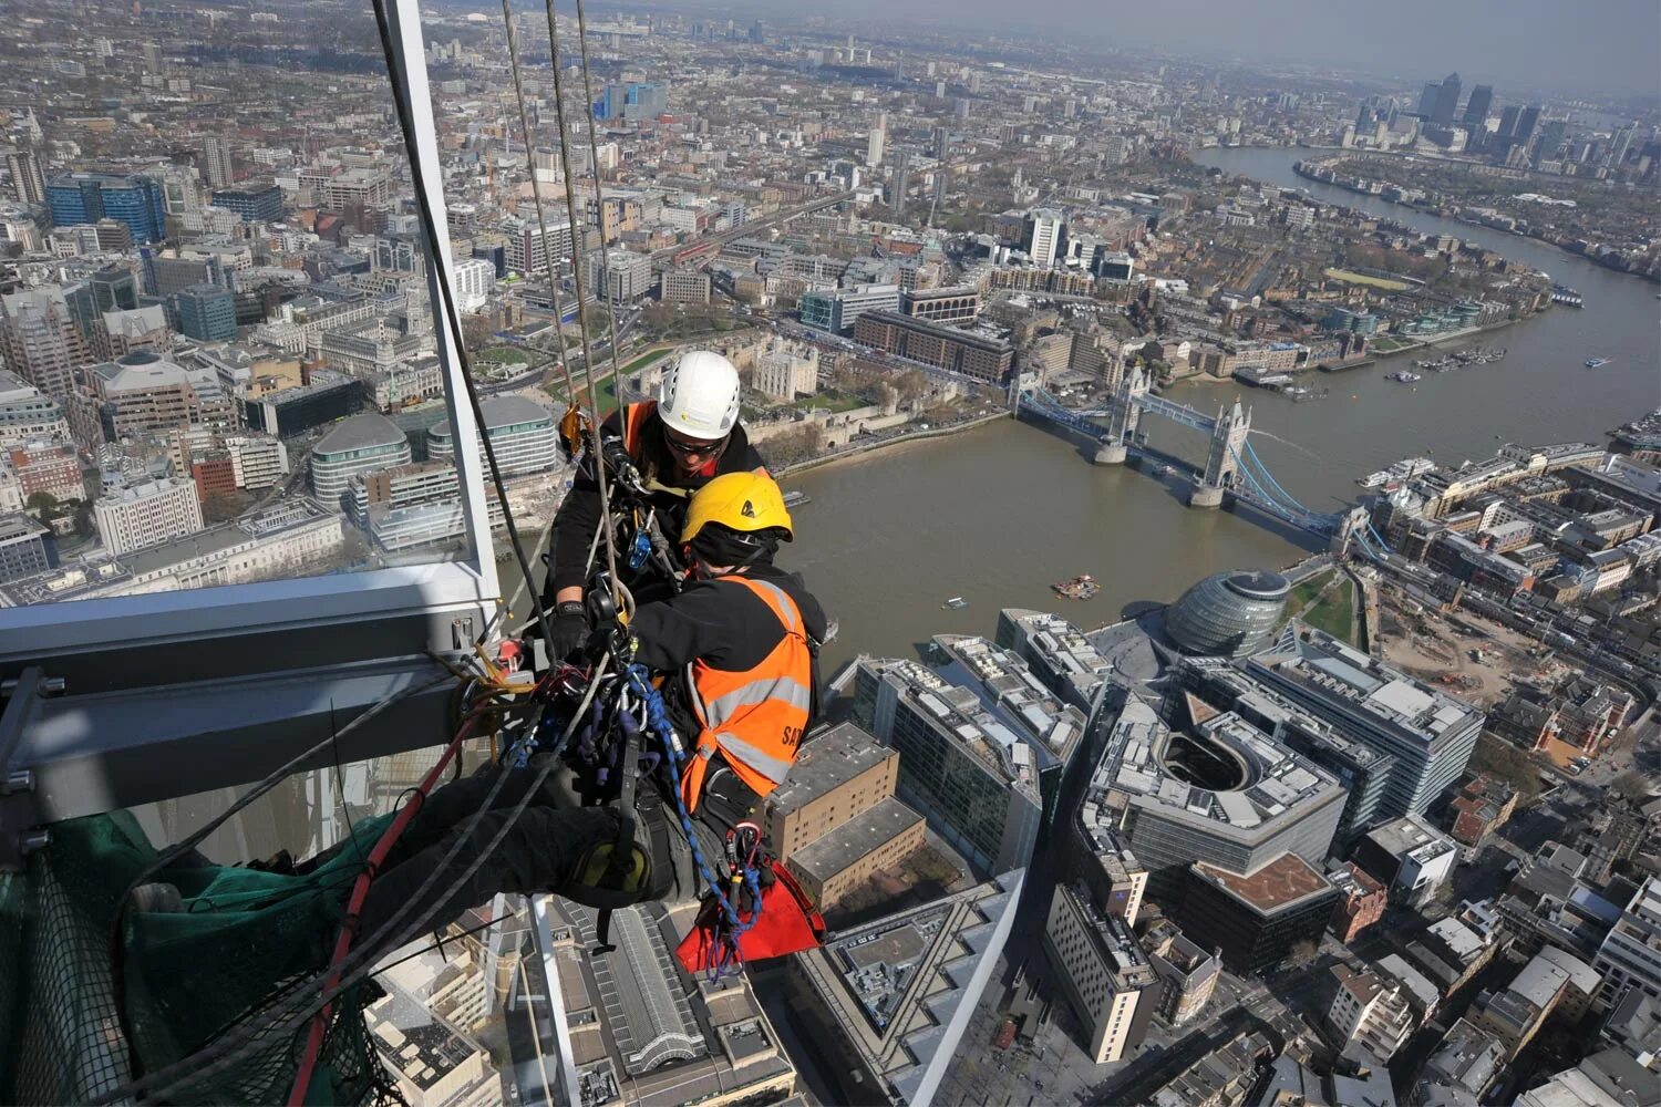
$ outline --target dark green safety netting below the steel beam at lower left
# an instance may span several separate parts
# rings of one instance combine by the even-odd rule
[[[0,876],[0,1104],[98,1099],[256,1026],[294,984],[316,994],[350,885],[390,818],[359,823],[306,876],[179,858],[151,880],[174,885],[183,909],[128,909],[120,964],[116,905],[156,850],[125,812],[56,823],[23,873]],[[397,1097],[364,1027],[370,991],[336,1001],[307,1102]],[[307,1024],[289,1016],[259,1029],[236,1064],[188,1077],[166,1100],[284,1102]]]

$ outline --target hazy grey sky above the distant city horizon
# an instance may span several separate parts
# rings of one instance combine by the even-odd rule
[[[1422,80],[1458,71],[1467,88],[1661,96],[1656,0],[772,0],[769,7],[879,25],[1020,20],[1106,45],[1246,63],[1355,66]]]

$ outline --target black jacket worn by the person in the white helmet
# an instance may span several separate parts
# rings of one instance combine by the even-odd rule
[[[600,432],[603,436],[623,436],[623,418],[621,413],[613,412],[606,418]],[[664,475],[674,473],[674,460],[669,456],[669,448],[663,443],[663,420],[653,413],[646,425],[641,428],[639,443],[636,445],[635,465],[639,466],[641,475],[651,481],[654,476],[659,483],[674,483],[676,490],[686,490],[688,493],[703,488],[713,478],[724,473],[741,473],[746,470],[762,470],[766,463],[756,448],[749,445],[749,435],[744,433],[744,427],[733,427],[733,435],[728,438],[726,450],[716,458],[714,473],[706,476],[694,476],[686,483],[673,481]],[[658,524],[663,528],[664,538],[669,539],[669,548],[674,556],[679,558],[679,539],[681,524],[686,521],[686,500],[688,496],[676,495],[674,491],[654,491],[648,496],[651,505],[658,510]],[[548,543],[551,554],[548,564],[548,583],[543,588],[543,602],[550,607],[553,606],[553,597],[561,588],[581,588],[588,581],[583,574],[588,564],[588,546],[595,541],[595,533],[600,529],[600,483],[595,476],[593,451],[590,450],[583,455],[583,463],[576,470],[576,478],[571,481],[571,490],[565,495],[565,503],[560,505],[558,513],[553,516],[553,534]],[[605,551],[596,554],[596,564],[605,563]],[[646,569],[649,573],[649,569]],[[633,586],[635,579],[625,569],[618,571],[623,576],[623,583]]]

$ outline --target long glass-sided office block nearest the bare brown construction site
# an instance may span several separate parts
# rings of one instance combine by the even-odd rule
[[[1297,627],[1246,662],[1259,684],[1394,758],[1380,817],[1422,815],[1465,772],[1483,712],[1374,661],[1330,634]]]

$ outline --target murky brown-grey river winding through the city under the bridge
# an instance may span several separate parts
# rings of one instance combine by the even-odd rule
[[[1301,383],[1330,388],[1324,402],[1292,403],[1227,383],[1166,392],[1201,410],[1241,395],[1252,407],[1257,453],[1307,506],[1330,510],[1354,500],[1357,476],[1404,456],[1457,463],[1488,456],[1503,441],[1601,441],[1661,405],[1656,285],[1500,231],[1304,181],[1292,173],[1297,158],[1292,149],[1196,156],[1227,173],[1480,242],[1586,297],[1585,309],[1558,307],[1482,335],[1485,345],[1507,347],[1505,360],[1425,373],[1414,387],[1384,375],[1423,354],[1307,375]],[[1611,363],[1588,370],[1590,357]],[[1153,427],[1149,436],[1194,460],[1204,451],[1203,438],[1184,428]],[[812,503],[796,511],[797,541],[781,561],[802,569],[840,621],[840,636],[826,651],[827,672],[859,652],[912,656],[933,634],[990,637],[998,607],[1051,609],[1086,629],[1101,626],[1128,604],[1174,599],[1208,573],[1282,566],[1314,548],[1251,516],[1189,510],[1183,486],[1131,468],[1093,466],[1076,443],[1015,422],[895,446],[786,483]],[[1096,599],[1071,602],[1050,593],[1053,581],[1078,573],[1103,583]],[[953,596],[968,607],[942,609]]]

